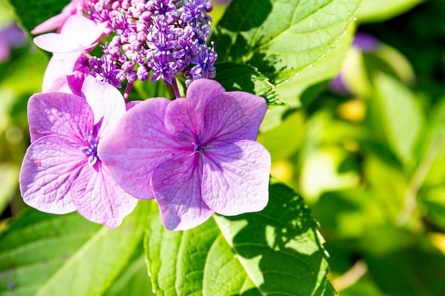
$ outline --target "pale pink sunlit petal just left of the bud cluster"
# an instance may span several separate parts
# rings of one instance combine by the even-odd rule
[[[94,47],[104,34],[107,23],[95,23],[81,14],[66,19],[60,33],[46,33],[34,38],[34,43],[50,53],[71,53]]]

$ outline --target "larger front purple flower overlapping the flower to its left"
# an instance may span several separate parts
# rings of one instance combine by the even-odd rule
[[[266,110],[261,97],[196,80],[186,98],[127,111],[98,155],[125,191],[156,199],[167,229],[191,229],[214,212],[257,212],[269,196],[270,155],[255,141]]]

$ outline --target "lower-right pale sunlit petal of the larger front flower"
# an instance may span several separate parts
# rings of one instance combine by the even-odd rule
[[[243,140],[203,152],[203,199],[218,214],[258,212],[269,200],[269,152]]]

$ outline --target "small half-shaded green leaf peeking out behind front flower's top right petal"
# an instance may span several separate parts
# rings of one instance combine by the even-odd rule
[[[216,65],[216,80],[227,91],[241,90],[266,99],[267,106],[286,106],[275,92],[274,84],[249,65],[224,62]]]

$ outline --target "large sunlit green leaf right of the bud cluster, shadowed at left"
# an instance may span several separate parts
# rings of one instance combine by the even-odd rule
[[[220,61],[250,64],[278,84],[323,57],[362,2],[235,0],[210,39]]]

